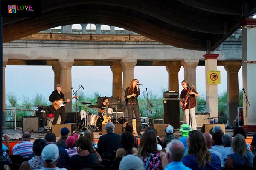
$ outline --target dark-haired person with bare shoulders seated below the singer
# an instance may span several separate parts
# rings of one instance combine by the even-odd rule
[[[133,147],[134,144],[134,136],[131,134],[131,132],[124,132],[121,135],[121,146],[122,148],[119,148],[116,150],[116,158],[122,157],[128,154],[134,154],[137,152],[137,148]]]

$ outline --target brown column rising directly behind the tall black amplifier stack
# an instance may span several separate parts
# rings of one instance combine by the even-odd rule
[[[168,90],[179,93],[179,71],[181,68],[180,61],[173,61],[166,63],[166,70],[168,71]]]

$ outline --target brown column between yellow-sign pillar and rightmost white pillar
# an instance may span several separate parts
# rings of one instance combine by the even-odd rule
[[[224,63],[224,68],[227,71],[227,117],[231,126],[237,115],[237,107],[239,107],[238,71],[241,68],[241,64],[240,62]]]

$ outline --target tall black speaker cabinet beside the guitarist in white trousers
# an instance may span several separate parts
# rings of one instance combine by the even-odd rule
[[[172,125],[174,129],[180,128],[180,100],[163,100],[163,123]]]

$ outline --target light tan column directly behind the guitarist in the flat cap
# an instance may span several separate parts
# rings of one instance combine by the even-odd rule
[[[74,63],[74,59],[59,59],[58,64],[61,68],[60,83],[62,84],[62,93],[65,95],[65,99],[71,99],[72,97],[72,82],[71,82],[71,67]],[[66,112],[72,112],[72,101],[65,106]]]

